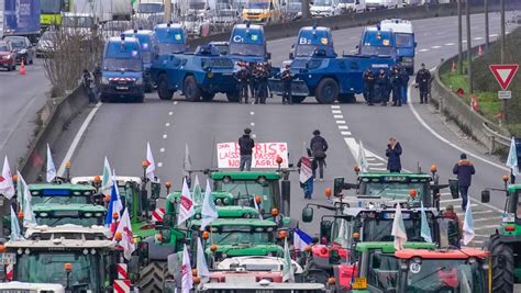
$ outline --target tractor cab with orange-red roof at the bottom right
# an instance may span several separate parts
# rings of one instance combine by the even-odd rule
[[[488,292],[488,256],[468,248],[396,251],[400,269],[391,292]]]

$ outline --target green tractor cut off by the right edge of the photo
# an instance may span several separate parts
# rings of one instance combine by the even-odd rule
[[[503,178],[506,192],[505,212],[496,233],[490,235],[486,247],[492,258],[492,291],[513,292],[514,283],[521,283],[521,184],[509,184]],[[481,202],[490,201],[490,190],[481,191]]]

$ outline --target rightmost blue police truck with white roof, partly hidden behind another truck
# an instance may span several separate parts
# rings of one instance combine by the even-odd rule
[[[383,20],[380,27],[381,30],[391,30],[395,34],[397,55],[401,58],[400,64],[412,76],[414,74],[414,53],[417,48],[412,23],[400,19]]]

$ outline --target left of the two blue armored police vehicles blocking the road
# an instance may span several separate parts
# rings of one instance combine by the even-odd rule
[[[233,60],[209,45],[197,47],[193,54],[160,56],[151,72],[162,100],[170,100],[180,90],[190,102],[211,101],[219,92],[231,102],[239,101]]]

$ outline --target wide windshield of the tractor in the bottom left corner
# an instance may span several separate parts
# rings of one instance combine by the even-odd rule
[[[104,266],[100,263],[99,253],[77,252],[35,251],[29,255],[19,255],[14,280],[27,283],[58,283],[66,286],[67,274],[64,271],[64,266],[70,263],[73,273],[69,277],[69,286],[98,292],[102,285],[102,275],[104,275]]]

